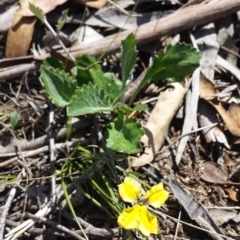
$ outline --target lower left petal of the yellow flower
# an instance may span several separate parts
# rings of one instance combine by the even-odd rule
[[[140,205],[134,205],[131,208],[125,208],[118,217],[118,225],[127,229],[134,230],[140,223]]]

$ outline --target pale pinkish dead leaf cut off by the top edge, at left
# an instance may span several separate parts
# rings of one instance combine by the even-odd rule
[[[46,14],[66,1],[67,0],[19,0],[21,8],[17,11],[17,14],[24,17],[34,16],[29,10],[29,2],[39,7]]]

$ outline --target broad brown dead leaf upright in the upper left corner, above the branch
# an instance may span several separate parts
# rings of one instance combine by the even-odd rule
[[[32,40],[35,17],[22,17],[15,14],[12,27],[8,31],[6,58],[26,56]]]

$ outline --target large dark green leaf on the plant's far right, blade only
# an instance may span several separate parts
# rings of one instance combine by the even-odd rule
[[[200,53],[191,45],[177,43],[169,45],[167,51],[159,52],[148,68],[143,81],[150,79],[182,81],[199,66]]]

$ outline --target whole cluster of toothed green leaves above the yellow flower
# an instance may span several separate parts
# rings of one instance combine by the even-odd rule
[[[181,43],[170,45],[166,52],[160,51],[126,106],[121,100],[136,61],[136,40],[130,34],[122,42],[122,81],[113,73],[104,73],[97,60],[89,55],[78,57],[70,73],[65,72],[61,61],[47,58],[40,70],[41,80],[49,99],[57,106],[67,107],[68,116],[114,113],[117,117],[106,128],[107,147],[133,154],[141,151],[140,139],[144,134],[140,123],[127,117],[135,109],[146,109],[146,105],[129,107],[138,92],[151,80],[184,80],[199,66],[200,54],[190,45]]]

